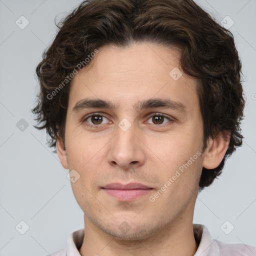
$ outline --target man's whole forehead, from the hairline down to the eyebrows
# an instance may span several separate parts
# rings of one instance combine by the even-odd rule
[[[131,107],[145,98],[166,96],[194,104],[197,81],[182,73],[179,58],[177,48],[152,43],[103,46],[72,79],[70,104],[92,97]]]

